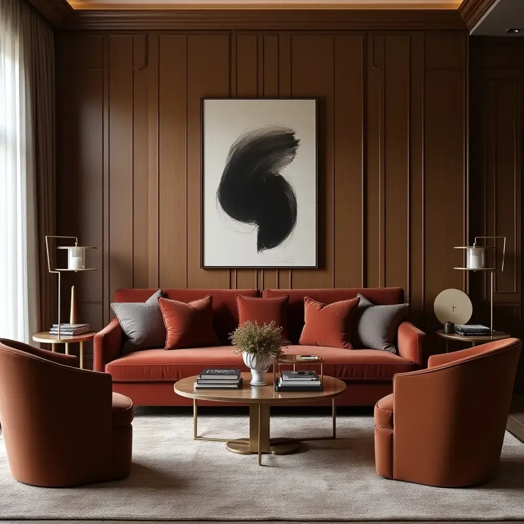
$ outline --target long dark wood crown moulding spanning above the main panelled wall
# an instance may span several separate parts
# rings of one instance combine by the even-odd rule
[[[466,30],[453,9],[76,10],[68,29],[90,30]]]

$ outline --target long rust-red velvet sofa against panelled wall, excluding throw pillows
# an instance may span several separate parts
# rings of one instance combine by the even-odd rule
[[[156,289],[119,289],[116,302],[144,302]],[[120,324],[112,320],[94,339],[94,369],[113,378],[113,391],[131,398],[137,406],[185,406],[191,400],[174,394],[173,384],[197,375],[204,367],[245,367],[242,356],[235,355],[228,335],[238,325],[236,294],[260,297],[257,289],[163,289],[169,299],[189,302],[213,296],[213,325],[221,346],[166,351],[163,348],[136,351],[123,355]],[[398,354],[388,351],[356,348],[297,345],[304,325],[304,297],[324,303],[352,299],[362,293],[376,304],[403,303],[401,288],[367,289],[266,289],[265,298],[289,295],[288,331],[292,345],[289,353],[316,354],[324,358],[324,373],[347,383],[339,405],[373,406],[392,391],[396,373],[409,372],[423,366],[424,333],[410,322],[398,329]],[[202,402],[204,403],[204,402]]]

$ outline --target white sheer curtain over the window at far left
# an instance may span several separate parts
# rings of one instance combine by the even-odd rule
[[[39,315],[27,9],[0,0],[0,336],[24,342]]]

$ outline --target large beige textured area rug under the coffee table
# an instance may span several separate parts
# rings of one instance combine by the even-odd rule
[[[247,413],[207,411],[200,434],[242,438]],[[374,471],[373,418],[339,416],[336,441],[301,453],[235,455],[193,441],[191,411],[142,409],[134,422],[132,474],[122,482],[36,488],[9,473],[0,441],[0,518],[136,520],[523,520],[524,444],[506,433],[496,481],[445,489],[389,481]],[[329,434],[329,414],[277,413],[272,436]],[[474,435],[472,434],[472,438]]]

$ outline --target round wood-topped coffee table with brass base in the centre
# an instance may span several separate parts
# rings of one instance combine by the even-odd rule
[[[251,375],[242,374],[241,389],[198,389],[193,385],[196,376],[183,378],[174,385],[174,392],[182,397],[193,399],[193,439],[226,442],[226,449],[232,453],[249,455],[258,453],[258,464],[262,465],[262,454],[286,455],[299,449],[300,440],[323,440],[336,438],[336,407],[335,397],[342,395],[346,384],[337,378],[324,375],[323,391],[275,391],[272,374],[266,374],[267,386],[250,386]],[[308,439],[271,439],[269,437],[269,406],[289,403],[315,402],[332,399],[332,436],[314,437]],[[249,438],[247,439],[213,439],[198,436],[197,419],[198,400],[215,402],[237,402],[249,405]]]

